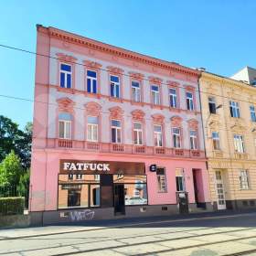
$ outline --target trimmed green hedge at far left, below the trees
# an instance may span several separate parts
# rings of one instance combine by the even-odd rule
[[[24,197],[0,197],[0,215],[23,214]]]

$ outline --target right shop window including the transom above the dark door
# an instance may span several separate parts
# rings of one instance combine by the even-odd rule
[[[113,183],[123,185],[126,206],[147,204],[146,176],[114,175]]]

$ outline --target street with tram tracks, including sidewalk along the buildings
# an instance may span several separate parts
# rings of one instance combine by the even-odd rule
[[[256,255],[255,212],[122,223],[0,230],[0,256]]]

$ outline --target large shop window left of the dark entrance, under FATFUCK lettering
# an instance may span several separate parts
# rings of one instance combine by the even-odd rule
[[[101,206],[100,179],[93,175],[59,175],[59,208]]]

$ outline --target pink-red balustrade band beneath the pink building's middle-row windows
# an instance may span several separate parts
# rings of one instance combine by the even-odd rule
[[[204,158],[205,157],[205,152],[200,150],[188,150],[188,149],[182,149],[182,148],[155,147],[155,146],[133,145],[133,144],[96,143],[96,142],[64,140],[64,139],[48,139],[48,148],[59,148],[64,150],[72,149],[72,150],[81,150],[81,151],[98,152],[98,153],[114,153],[114,154],[130,154],[130,155],[159,155],[159,156],[170,156],[170,157],[176,157],[176,158],[180,158],[180,157]]]

